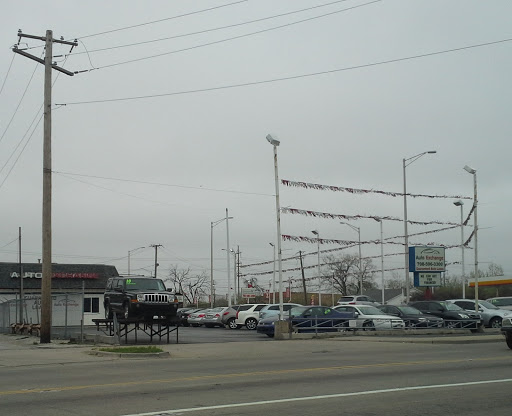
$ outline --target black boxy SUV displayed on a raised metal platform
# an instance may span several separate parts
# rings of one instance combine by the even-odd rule
[[[176,311],[183,306],[179,294],[169,293],[161,279],[151,277],[112,277],[107,281],[103,306],[105,318],[144,318],[154,316],[176,320]],[[181,302],[180,302],[181,301]]]

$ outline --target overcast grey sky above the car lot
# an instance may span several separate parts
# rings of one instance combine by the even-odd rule
[[[161,244],[159,277],[171,265],[209,275],[210,223],[226,208],[234,217],[230,246],[240,247],[242,263],[272,260],[273,150],[265,140],[272,133],[281,140],[280,178],[291,181],[400,193],[402,159],[436,150],[407,167],[408,192],[470,197],[473,177],[463,167],[471,166],[478,175],[480,266],[494,262],[510,274],[510,16],[509,0],[5,2],[0,260],[17,261],[18,227],[23,261],[41,258],[37,122],[44,70],[10,48],[18,29],[38,36],[51,29],[55,38],[79,40],[70,55],[68,46],[54,46],[58,65],[86,71],[54,72],[54,262],[107,263],[126,273],[129,250]],[[24,39],[20,48],[27,44],[30,53],[43,53],[42,42]],[[146,98],[110,101],[136,97]],[[286,186],[280,194],[283,207],[404,214],[401,197]],[[458,223],[453,202],[409,198],[408,217]],[[464,217],[471,204],[465,200]],[[374,220],[350,223],[361,228],[363,241],[380,238]],[[443,227],[410,225],[409,233]],[[283,234],[314,237],[315,229],[324,239],[357,241],[338,219],[282,214]],[[403,236],[403,224],[385,221],[383,232]],[[465,228],[466,237],[471,232]],[[460,229],[410,242],[457,245]],[[225,247],[222,222],[214,228],[218,293],[227,287]],[[316,247],[284,241],[283,257]],[[391,255],[403,247],[384,250],[386,278],[392,269],[403,276],[403,256]],[[357,248],[337,253],[346,252]],[[378,256],[380,247],[365,244],[362,252]],[[466,251],[468,272],[473,254]],[[152,248],[133,252],[132,273],[149,275],[153,261]],[[446,261],[459,262],[460,249],[447,249]],[[307,256],[305,265],[314,264],[316,254]],[[378,258],[375,264],[380,268]],[[283,263],[293,267],[297,260]],[[447,270],[459,275],[461,266]],[[269,279],[258,276],[265,286]]]

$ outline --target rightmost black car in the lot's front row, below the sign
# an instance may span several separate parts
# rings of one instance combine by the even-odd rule
[[[430,313],[444,319],[444,326],[447,328],[463,328],[468,326],[472,331],[477,328],[472,325],[474,321],[476,326],[482,324],[482,318],[475,312],[465,311],[460,306],[451,302],[442,300],[420,300],[410,302],[409,306],[413,306],[422,312]],[[464,321],[468,321],[464,323]]]

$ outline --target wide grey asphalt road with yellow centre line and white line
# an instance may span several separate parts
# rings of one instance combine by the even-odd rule
[[[269,340],[167,349],[170,358],[1,368],[0,414],[508,416],[512,408],[504,342]]]

